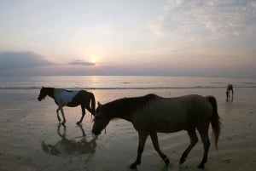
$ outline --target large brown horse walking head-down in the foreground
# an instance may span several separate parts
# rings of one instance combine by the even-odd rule
[[[177,98],[162,98],[155,94],[142,97],[124,98],[114,100],[105,105],[98,103],[95,115],[93,134],[101,134],[110,120],[123,118],[133,124],[138,132],[137,159],[130,168],[137,168],[141,163],[141,157],[148,135],[150,136],[154,150],[169,164],[169,159],[162,151],[158,142],[157,132],[173,133],[186,130],[189,134],[190,144],[183,151],[179,162],[185,162],[189,151],[197,143],[198,138],[195,129],[201,135],[204,147],[204,155],[198,168],[204,168],[210,146],[208,128],[212,124],[212,135],[216,148],[218,148],[218,136],[220,133],[220,118],[218,117],[217,102],[214,97],[202,97],[192,94]]]

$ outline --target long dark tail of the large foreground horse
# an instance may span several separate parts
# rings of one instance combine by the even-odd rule
[[[214,144],[218,149],[218,137],[220,134],[221,122],[220,122],[220,117],[218,116],[217,101],[213,96],[207,96],[207,100],[210,101],[213,109],[212,118],[211,118],[212,136],[213,136]]]

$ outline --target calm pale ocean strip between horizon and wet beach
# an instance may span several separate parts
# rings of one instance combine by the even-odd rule
[[[0,77],[0,89],[39,89],[44,87],[69,89],[174,89],[255,88],[256,79],[226,77],[150,77],[150,76],[49,76]]]

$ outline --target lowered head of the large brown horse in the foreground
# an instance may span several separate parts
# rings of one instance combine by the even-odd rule
[[[102,130],[107,127],[110,118],[107,116],[108,111],[104,110],[104,105],[101,105],[98,102],[98,107],[96,108],[95,118],[94,118],[94,124],[92,127],[92,133],[93,134],[101,134]]]

